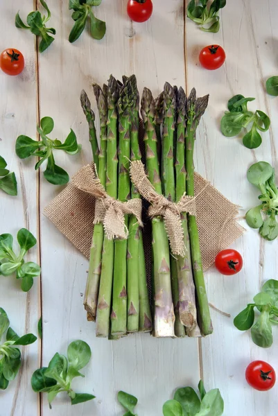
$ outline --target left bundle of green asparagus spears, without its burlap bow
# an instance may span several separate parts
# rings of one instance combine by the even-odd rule
[[[98,178],[114,200],[117,197],[121,202],[129,200],[130,191],[131,198],[141,198],[137,189],[130,185],[129,173],[130,159],[141,159],[136,78],[125,77],[121,84],[110,76],[103,89],[94,85],[94,94],[101,125],[99,149],[94,112],[84,91],[80,100],[89,123]],[[103,223],[97,223],[90,250],[84,302],[87,319],[96,320],[96,336],[110,339],[119,339],[127,332],[150,332],[153,327],[142,232],[136,216],[125,215],[125,227],[129,230],[128,241],[113,241],[105,236]]]

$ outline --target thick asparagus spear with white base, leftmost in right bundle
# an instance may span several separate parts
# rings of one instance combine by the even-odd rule
[[[144,88],[141,98],[141,115],[145,124],[146,165],[148,177],[157,193],[162,193],[157,159],[157,137],[155,134],[155,102],[149,89]],[[169,245],[164,223],[157,216],[153,226],[153,262],[155,282],[155,336],[174,336],[175,315],[171,293]]]

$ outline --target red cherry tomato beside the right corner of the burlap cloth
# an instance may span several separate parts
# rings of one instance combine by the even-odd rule
[[[215,259],[215,265],[222,275],[236,275],[243,266],[241,254],[232,248],[220,251]]]

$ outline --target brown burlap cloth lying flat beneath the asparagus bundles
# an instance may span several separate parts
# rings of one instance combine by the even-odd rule
[[[90,174],[86,170],[86,174]],[[89,259],[89,250],[94,229],[96,200],[91,193],[78,189],[74,183],[85,180],[84,168],[73,176],[73,182],[54,198],[44,209],[44,214]],[[196,217],[200,236],[200,248],[204,270],[213,263],[216,254],[240,237],[244,228],[236,222],[238,207],[227,200],[207,180],[195,173]],[[151,274],[150,227],[146,233],[146,268]]]

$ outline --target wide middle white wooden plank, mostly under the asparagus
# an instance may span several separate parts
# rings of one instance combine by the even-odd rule
[[[103,83],[110,73],[136,73],[140,91],[144,85],[154,95],[164,82],[184,85],[184,19],[183,1],[155,0],[155,13],[146,24],[131,24],[126,17],[125,3],[103,2],[97,16],[107,23],[102,41],[89,37],[87,31],[75,44],[67,36],[73,21],[67,2],[49,0],[53,11],[51,25],[58,29],[55,42],[40,55],[41,116],[53,116],[52,137],[64,139],[72,127],[82,143],[81,155],[57,156],[57,163],[70,175],[91,160],[87,141],[87,123],[80,109],[82,88],[92,98],[92,81]],[[94,110],[96,104],[92,98]],[[41,208],[57,195],[60,187],[41,179]],[[127,390],[139,397],[140,415],[161,415],[162,404],[180,385],[197,385],[200,378],[196,340],[156,340],[150,336],[134,336],[116,343],[94,336],[94,324],[87,322],[82,306],[87,261],[73,246],[42,218],[42,299],[44,321],[43,364],[56,351],[65,353],[69,342],[81,338],[92,347],[92,361],[85,370],[86,379],[76,380],[79,392],[94,392],[96,400],[71,408],[69,399],[58,398],[50,411],[43,398],[43,415],[70,416],[119,413],[116,392]],[[167,383],[165,382],[167,380]]]

